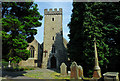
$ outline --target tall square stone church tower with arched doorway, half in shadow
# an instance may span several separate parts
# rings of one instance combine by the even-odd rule
[[[42,68],[60,68],[67,52],[62,31],[62,8],[44,10],[44,42]]]

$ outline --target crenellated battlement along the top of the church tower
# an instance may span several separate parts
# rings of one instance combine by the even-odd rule
[[[44,15],[62,15],[62,8],[59,8],[57,11],[57,8],[52,9],[44,9]]]

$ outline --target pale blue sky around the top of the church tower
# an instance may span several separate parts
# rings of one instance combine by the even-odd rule
[[[46,0],[45,0],[46,1]],[[54,1],[54,2],[53,2]],[[59,1],[59,2],[58,2]],[[67,36],[68,33],[69,33],[69,27],[67,27],[67,24],[70,22],[70,19],[71,19],[71,14],[72,14],[72,1],[70,0],[67,0],[66,2],[60,2],[60,1],[63,1],[63,0],[52,0],[49,2],[38,2],[38,1],[35,1],[36,4],[38,4],[38,9],[39,9],[39,12],[40,14],[43,16],[43,19],[42,19],[42,26],[41,27],[38,27],[37,28],[37,34],[35,35],[35,38],[36,40],[39,42],[39,43],[42,43],[43,42],[43,35],[44,35],[44,9],[54,9],[54,8],[57,8],[59,10],[59,8],[62,8],[63,9],[63,37],[69,41],[69,37]]]

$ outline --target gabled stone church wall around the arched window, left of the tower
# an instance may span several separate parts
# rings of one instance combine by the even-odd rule
[[[41,52],[41,48],[40,48],[40,44],[38,43],[37,40],[33,40],[31,43],[29,43],[29,46],[27,47],[27,50],[30,49],[30,47],[33,46],[35,48],[34,51],[34,58],[28,58],[28,60],[22,60],[19,63],[19,66],[33,66],[33,67],[37,67],[40,65],[41,63],[41,57],[42,57],[42,52]]]

